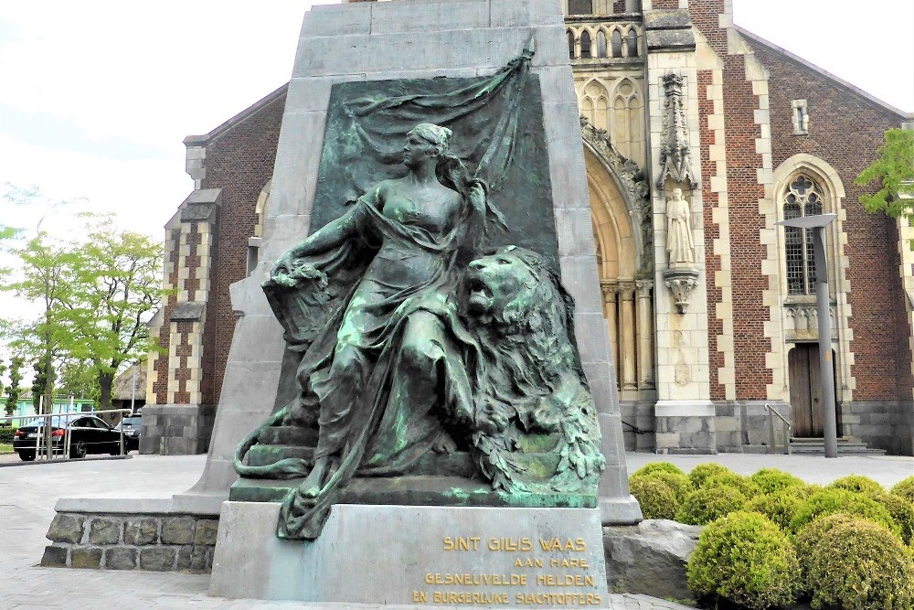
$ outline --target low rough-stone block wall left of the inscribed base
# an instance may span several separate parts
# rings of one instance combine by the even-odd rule
[[[218,519],[192,515],[58,512],[48,528],[44,567],[207,573]]]

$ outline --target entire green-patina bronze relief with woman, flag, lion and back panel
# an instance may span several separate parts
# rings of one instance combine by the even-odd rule
[[[321,228],[263,284],[288,345],[280,403],[235,460],[231,498],[282,497],[280,537],[316,538],[336,502],[595,506],[531,56],[335,88]]]

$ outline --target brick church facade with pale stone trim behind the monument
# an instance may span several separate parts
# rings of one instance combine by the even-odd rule
[[[728,0],[563,8],[627,448],[760,451],[771,410],[814,439],[832,408],[845,443],[912,455],[914,232],[866,213],[854,184],[911,114],[735,26]],[[229,347],[251,340],[233,337],[231,284],[269,264],[284,102],[283,87],[185,140],[195,190],[165,227],[173,294],[152,323],[143,453],[207,450]],[[834,405],[818,387],[812,238],[775,224],[822,213],[837,215]],[[682,227],[687,252],[670,236]]]

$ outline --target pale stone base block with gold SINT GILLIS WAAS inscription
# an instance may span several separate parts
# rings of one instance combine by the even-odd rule
[[[279,506],[223,505],[209,594],[492,608],[609,599],[597,509],[337,504],[302,542],[276,538]]]

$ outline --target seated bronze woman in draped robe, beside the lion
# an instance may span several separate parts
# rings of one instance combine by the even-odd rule
[[[353,242],[377,248],[298,368],[301,393],[286,422],[313,425],[316,412],[319,434],[310,474],[283,505],[287,522],[320,508],[356,470],[396,474],[432,448],[451,449],[445,413],[472,412],[462,361],[449,348],[453,329],[442,319],[455,315],[455,263],[482,224],[485,192],[449,155],[451,135],[417,125],[403,148],[405,177],[370,188],[272,268],[268,284],[304,279],[301,289],[314,290],[326,283],[322,266],[329,274],[340,265],[322,259],[327,252]]]

